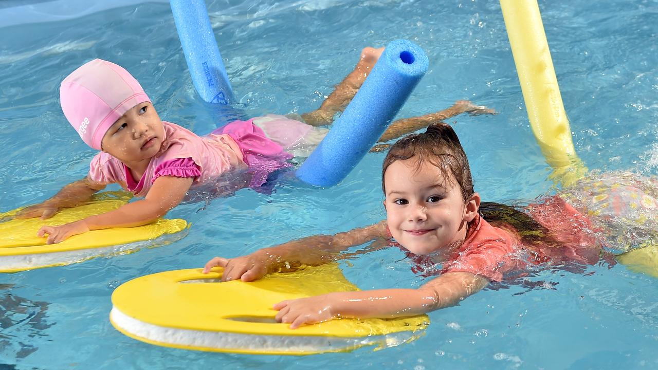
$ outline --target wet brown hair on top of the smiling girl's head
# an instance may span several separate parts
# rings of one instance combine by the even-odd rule
[[[386,195],[386,185],[384,184],[386,169],[395,161],[411,158],[417,159],[418,169],[422,163],[436,166],[445,181],[453,176],[465,202],[474,194],[473,178],[470,174],[466,153],[455,130],[449,124],[444,122],[430,124],[422,134],[405,136],[393,144],[384,159],[384,165],[382,165],[384,195]]]

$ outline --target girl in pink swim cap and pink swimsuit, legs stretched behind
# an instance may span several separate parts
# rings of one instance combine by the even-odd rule
[[[143,199],[115,211],[61,226],[43,226],[38,234],[47,243],[111,227],[150,223],[165,215],[189,196],[190,190],[216,189],[229,174],[237,176],[232,190],[257,188],[270,172],[290,167],[288,159],[305,157],[322,140],[335,113],[342,111],[355,95],[382,49],[367,47],[361,60],[320,109],[299,120],[266,115],[247,121],[236,120],[206,136],[197,136],[177,124],[160,119],[139,82],[124,68],[94,59],[67,76],[60,87],[62,110],[80,138],[100,151],[89,173],[43,203],[26,207],[17,218],[47,219],[64,207],[88,201],[107,184]],[[381,141],[387,141],[430,122],[460,113],[493,113],[468,101],[458,101],[439,113],[393,122]],[[305,122],[301,122],[305,120]]]

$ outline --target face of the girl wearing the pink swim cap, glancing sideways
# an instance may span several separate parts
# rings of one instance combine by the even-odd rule
[[[163,122],[153,105],[139,103],[122,115],[103,136],[101,147],[123,163],[151,159],[164,140]]]

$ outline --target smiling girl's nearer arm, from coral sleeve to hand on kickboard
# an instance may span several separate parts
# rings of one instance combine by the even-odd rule
[[[459,303],[489,283],[472,273],[445,273],[418,289],[380,289],[335,292],[274,305],[277,321],[302,324],[320,323],[337,317],[401,317],[426,313]]]

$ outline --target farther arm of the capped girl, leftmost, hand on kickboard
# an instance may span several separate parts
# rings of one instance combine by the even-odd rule
[[[75,207],[88,201],[93,194],[104,188],[104,184],[97,184],[89,181],[88,178],[83,178],[64,186],[53,198],[21,209],[14,217],[16,219],[31,219],[32,217],[41,217],[42,220],[49,219],[62,208]]]

